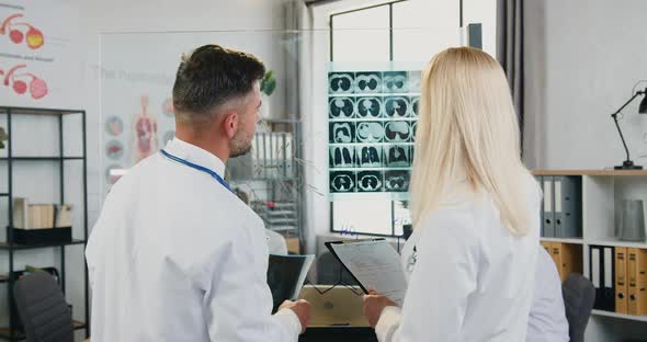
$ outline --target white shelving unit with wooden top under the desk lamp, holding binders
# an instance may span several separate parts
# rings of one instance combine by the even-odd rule
[[[591,246],[647,249],[647,241],[623,241],[615,237],[618,202],[643,200],[647,209],[647,170],[535,170],[534,175],[581,178],[582,236],[542,238],[546,242],[581,246],[581,266],[590,278]],[[615,282],[615,280],[613,280]],[[634,316],[593,309],[587,326],[586,341],[623,341],[647,339],[647,316]]]

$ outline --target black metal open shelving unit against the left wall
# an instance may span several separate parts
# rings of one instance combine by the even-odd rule
[[[36,116],[34,118],[34,116]],[[66,124],[69,123],[68,117],[75,117],[77,122],[80,123],[80,145],[81,145],[81,152],[73,153],[71,156],[67,156],[65,153],[66,147],[69,147],[66,144],[70,144],[68,137],[64,135],[66,130]],[[7,179],[0,179],[0,182],[5,182],[7,184],[2,187],[2,192],[0,192],[0,198],[7,202],[7,209],[8,209],[8,227],[7,227],[7,238],[4,241],[0,241],[0,253],[8,255],[8,273],[0,274],[0,284],[5,285],[7,289],[7,311],[9,317],[9,327],[1,327],[0,328],[0,340],[9,340],[9,341],[21,341],[25,339],[25,335],[19,331],[15,327],[15,315],[11,310],[11,304],[13,303],[13,284],[16,281],[16,275],[14,272],[20,272],[22,270],[16,270],[15,261],[20,253],[21,256],[25,255],[25,253],[30,253],[30,251],[35,251],[38,249],[54,249],[59,253],[60,256],[60,286],[63,292],[66,292],[66,273],[69,270],[66,270],[66,248],[70,249],[70,252],[76,253],[83,253],[86,241],[88,239],[88,178],[87,178],[87,170],[88,170],[88,161],[87,161],[87,145],[86,145],[86,112],[82,110],[53,110],[53,109],[31,109],[31,107],[10,107],[10,106],[0,106],[0,118],[5,118],[5,122],[2,123],[3,126],[7,128],[7,133],[9,135],[9,141],[7,147],[2,151],[2,157],[0,158],[0,167],[3,170],[7,170]],[[44,118],[44,119],[43,119]],[[25,134],[24,130],[15,129],[15,125],[18,125],[21,121],[26,119],[27,123],[36,123],[39,119],[41,122],[48,122],[53,123],[52,127],[56,127],[55,135],[58,137],[58,146],[54,146],[54,148],[58,149],[57,153],[43,153],[43,156],[35,155],[35,153],[15,153],[14,150],[19,147],[16,139],[14,136]],[[5,124],[5,125],[4,125]],[[36,133],[38,134],[38,127],[30,127],[27,132],[30,134]],[[58,194],[57,197],[59,204],[65,204],[68,201],[69,192],[66,191],[66,185],[69,185],[70,180],[66,179],[66,175],[69,176],[71,171],[68,170],[80,170],[80,174],[78,178],[75,178],[75,181],[81,183],[80,184],[80,198],[82,203],[75,207],[75,215],[81,215],[82,218],[80,219],[80,224],[77,227],[72,227],[72,237],[71,241],[66,242],[53,242],[53,243],[35,243],[35,244],[20,244],[14,241],[14,228],[12,227],[13,224],[13,200],[15,196],[15,185],[19,183],[19,178],[16,176],[19,173],[16,172],[16,168],[21,166],[27,166],[30,170],[36,170],[41,168],[55,168],[58,171]],[[2,174],[4,178],[4,174]],[[47,183],[46,180],[43,179],[35,179],[29,180],[30,182],[38,183]],[[79,184],[77,184],[78,186]],[[37,186],[36,186],[37,187]],[[68,197],[66,197],[66,194]],[[72,224],[75,226],[75,224]],[[81,226],[81,227],[78,227]],[[4,229],[4,227],[1,227]],[[72,249],[73,248],[73,249]],[[84,260],[84,259],[82,259]],[[52,263],[55,263],[53,260]],[[37,266],[48,266],[48,265],[37,265]],[[73,328],[75,330],[84,330],[86,338],[90,334],[90,327],[89,327],[89,288],[88,288],[88,270],[84,266],[83,262],[83,270],[75,270],[78,272],[83,272],[83,306],[84,306],[84,322],[75,321]]]

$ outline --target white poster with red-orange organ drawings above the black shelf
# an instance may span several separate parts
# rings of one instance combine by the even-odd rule
[[[63,0],[0,2],[2,105],[80,106],[78,11]]]

